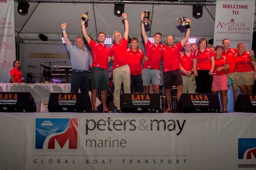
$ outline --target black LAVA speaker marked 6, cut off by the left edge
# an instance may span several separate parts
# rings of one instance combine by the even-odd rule
[[[0,112],[36,112],[30,92],[0,92]]]

